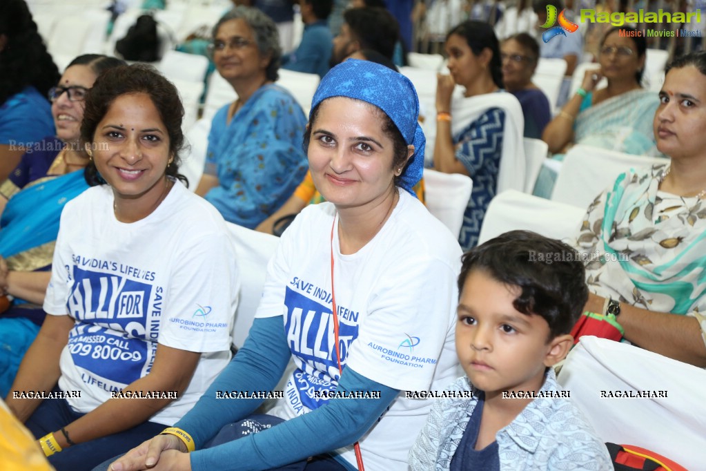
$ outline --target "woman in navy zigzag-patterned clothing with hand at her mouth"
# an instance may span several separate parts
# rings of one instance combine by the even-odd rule
[[[466,251],[478,243],[486,208],[498,186],[505,112],[498,107],[487,108],[456,131],[457,125],[451,124],[451,95],[456,84],[466,88],[466,98],[501,92],[500,49],[493,28],[472,20],[451,30],[444,47],[451,75],[438,76],[434,168],[473,179],[459,237]]]

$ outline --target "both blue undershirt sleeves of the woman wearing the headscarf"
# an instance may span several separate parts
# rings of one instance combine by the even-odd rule
[[[193,410],[175,425],[189,432],[196,442],[197,451],[191,453],[192,470],[267,470],[348,446],[363,436],[397,397],[398,390],[348,368],[340,378],[338,390],[380,391],[380,398],[331,399],[317,410],[258,434],[199,450],[199,446],[221,427],[246,417],[260,404],[257,400],[217,400],[215,391],[270,390],[277,384],[287,364],[289,350],[282,318],[270,319],[256,320],[236,359]],[[278,345],[275,342],[279,342]],[[243,353],[244,357],[239,359]],[[275,366],[277,371],[266,371]]]

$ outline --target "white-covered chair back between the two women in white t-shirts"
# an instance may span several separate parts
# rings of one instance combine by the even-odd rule
[[[226,223],[235,247],[240,273],[240,297],[235,311],[233,345],[240,348],[248,336],[265,285],[267,265],[280,239],[263,232]]]

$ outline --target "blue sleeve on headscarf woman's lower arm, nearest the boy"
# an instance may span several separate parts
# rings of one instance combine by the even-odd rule
[[[379,399],[330,399],[316,410],[258,434],[195,451],[191,453],[191,469],[268,470],[349,446],[375,424],[400,392],[350,368],[343,372],[338,390],[381,394]]]

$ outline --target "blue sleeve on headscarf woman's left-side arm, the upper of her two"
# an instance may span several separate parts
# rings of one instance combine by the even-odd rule
[[[243,347],[174,427],[189,432],[198,450],[224,425],[247,417],[263,402],[217,399],[216,391],[273,390],[287,368],[290,355],[282,316],[256,318]]]

